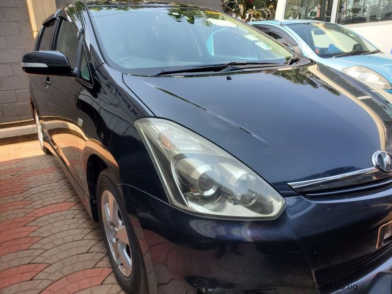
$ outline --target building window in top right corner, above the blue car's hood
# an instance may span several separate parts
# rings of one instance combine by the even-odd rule
[[[392,21],[392,0],[340,0],[338,7],[341,25]]]

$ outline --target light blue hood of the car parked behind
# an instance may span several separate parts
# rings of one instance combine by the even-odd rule
[[[320,62],[340,71],[346,67],[361,65],[377,73],[380,73],[390,83],[392,83],[392,54],[374,53],[368,55],[353,55],[337,58],[322,58]]]

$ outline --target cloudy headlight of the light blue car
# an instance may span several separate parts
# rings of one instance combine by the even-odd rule
[[[356,79],[359,79],[361,82],[367,83],[375,88],[391,89],[391,84],[389,81],[387,81],[385,77],[366,67],[350,66],[348,68],[343,69],[343,73],[355,77]]]

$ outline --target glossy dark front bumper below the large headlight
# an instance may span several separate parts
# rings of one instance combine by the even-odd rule
[[[290,196],[276,220],[239,221],[196,216],[123,187],[157,293],[368,293],[377,274],[392,270],[392,243],[376,249],[379,227],[392,220],[389,188]]]

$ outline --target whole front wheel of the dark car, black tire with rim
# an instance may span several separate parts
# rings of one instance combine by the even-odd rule
[[[142,250],[120,195],[115,177],[109,169],[103,170],[98,176],[97,203],[110,263],[117,281],[126,293],[148,294]]]

